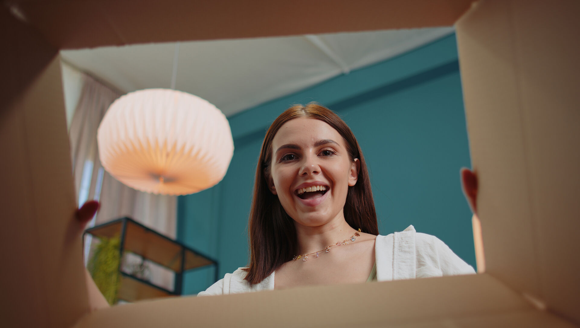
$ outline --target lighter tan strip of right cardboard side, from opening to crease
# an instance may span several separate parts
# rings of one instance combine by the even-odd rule
[[[486,270],[539,294],[535,231],[520,117],[509,3],[479,3],[456,24],[459,67]]]

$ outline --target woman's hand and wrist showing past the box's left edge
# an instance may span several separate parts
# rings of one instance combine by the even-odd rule
[[[86,228],[86,224],[88,224],[88,222],[95,216],[97,210],[99,210],[99,202],[96,200],[90,200],[85,204],[82,204],[81,208],[75,212],[75,219],[77,220],[75,224],[78,226],[78,236],[82,235],[82,232]],[[99,288],[97,288],[95,281],[86,269],[85,281],[86,291],[89,297],[90,312],[110,307],[107,300],[104,298]]]

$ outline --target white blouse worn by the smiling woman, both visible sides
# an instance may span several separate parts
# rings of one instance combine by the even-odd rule
[[[472,266],[455,255],[444,242],[435,236],[416,232],[412,225],[402,232],[376,236],[375,260],[376,280],[379,282],[475,273]],[[223,279],[197,295],[237,294],[274,289],[276,272],[272,272],[262,282],[251,285],[244,280],[246,272],[242,269],[226,273]]]

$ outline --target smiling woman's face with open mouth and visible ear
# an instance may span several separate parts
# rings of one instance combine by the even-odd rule
[[[343,219],[346,193],[358,177],[342,136],[324,121],[286,122],[272,141],[270,191],[297,224],[320,226]]]

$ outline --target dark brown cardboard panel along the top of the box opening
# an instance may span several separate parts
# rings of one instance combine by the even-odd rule
[[[21,1],[13,10],[60,49],[452,26],[471,0]],[[332,19],[322,19],[332,16]],[[358,18],[364,17],[364,19]],[[296,23],[299,22],[299,23]]]

